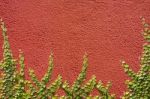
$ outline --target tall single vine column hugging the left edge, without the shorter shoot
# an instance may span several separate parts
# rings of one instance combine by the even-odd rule
[[[1,23],[2,34],[4,37],[4,44],[3,44],[3,60],[1,61],[1,69],[3,70],[2,73],[2,81],[1,81],[1,98],[13,98],[14,96],[14,84],[15,84],[15,71],[16,71],[16,62],[12,56],[12,52],[10,50],[10,45],[8,42],[8,36],[6,34],[7,29],[5,27],[4,22]]]

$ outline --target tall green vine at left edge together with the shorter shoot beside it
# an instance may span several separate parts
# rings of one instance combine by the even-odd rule
[[[3,59],[0,61],[0,98],[1,99],[18,99],[25,96],[25,77],[24,77],[24,57],[20,52],[19,65],[20,70],[16,69],[16,60],[13,58],[6,34],[7,29],[4,22],[1,23],[1,29],[4,38]]]

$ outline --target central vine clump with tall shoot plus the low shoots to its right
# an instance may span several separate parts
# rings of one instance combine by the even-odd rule
[[[67,81],[65,81],[62,85],[62,88],[66,93],[67,99],[84,99],[86,97],[90,98],[90,93],[94,88],[96,88],[100,93],[99,96],[95,96],[96,99],[113,99],[114,95],[109,94],[109,87],[105,87],[101,81],[97,82],[94,75],[89,81],[87,81],[87,83],[84,84],[84,80],[86,79],[87,66],[88,57],[87,54],[85,54],[83,57],[82,70],[73,85],[70,86]]]

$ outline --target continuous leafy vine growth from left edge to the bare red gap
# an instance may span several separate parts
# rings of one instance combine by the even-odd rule
[[[41,80],[38,80],[34,70],[29,70],[31,81],[25,79],[24,74],[24,55],[20,51],[19,59],[13,58],[8,36],[7,29],[4,22],[1,20],[1,29],[4,38],[3,44],[3,59],[0,61],[0,99],[56,99],[57,90],[62,89],[65,96],[61,99],[113,99],[114,95],[109,93],[111,86],[108,83],[106,86],[101,81],[96,81],[96,77],[92,78],[84,84],[86,79],[86,70],[88,66],[88,57],[84,55],[83,67],[77,79],[72,86],[67,81],[62,81],[62,76],[58,75],[56,80],[49,85],[52,70],[54,67],[53,55],[49,57],[48,70]],[[17,68],[19,64],[20,68]],[[90,93],[93,89],[98,90],[98,96],[91,96]]]

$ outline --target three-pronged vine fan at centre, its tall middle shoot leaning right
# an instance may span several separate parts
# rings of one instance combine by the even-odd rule
[[[63,83],[62,88],[69,99],[81,99],[84,96],[87,97],[93,90],[96,84],[95,76],[93,76],[84,86],[82,86],[83,81],[86,78],[87,66],[88,66],[88,58],[87,54],[85,54],[83,57],[82,70],[79,73],[77,79],[74,81],[73,85],[70,86],[67,81]]]

